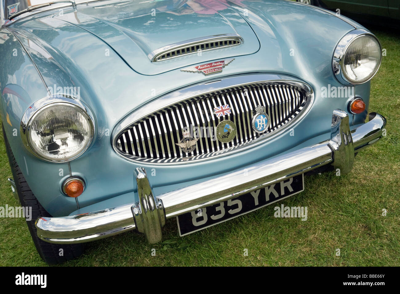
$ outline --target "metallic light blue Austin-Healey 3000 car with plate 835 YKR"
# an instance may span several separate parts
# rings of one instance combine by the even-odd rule
[[[367,112],[380,43],[322,8],[19,1],[1,0],[1,114],[48,263],[134,229],[160,242],[170,218],[183,236],[261,208],[306,172],[350,172],[384,132]]]

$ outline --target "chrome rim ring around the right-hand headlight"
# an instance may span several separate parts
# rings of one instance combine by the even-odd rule
[[[382,45],[380,44],[378,38],[376,38],[376,36],[374,34],[372,34],[371,32],[369,32],[367,30],[356,29],[356,30],[352,30],[351,32],[348,32],[346,35],[344,35],[343,38],[340,39],[338,45],[336,46],[334,54],[333,54],[333,58],[332,58],[332,70],[333,70],[336,78],[342,84],[346,84],[346,85],[364,84],[364,83],[370,81],[375,76],[375,74],[378,72],[378,70],[380,68],[380,64],[382,62],[382,55],[380,55],[379,64],[376,67],[374,74],[372,74],[368,78],[368,80],[365,80],[362,82],[356,82],[356,81],[350,81],[350,79],[346,78],[346,74],[344,73],[344,70],[343,70],[344,55],[345,55],[347,49],[349,48],[349,46],[352,44],[352,42],[354,42],[356,39],[361,38],[363,36],[371,36],[372,38],[374,38],[379,45],[380,52],[382,52]]]

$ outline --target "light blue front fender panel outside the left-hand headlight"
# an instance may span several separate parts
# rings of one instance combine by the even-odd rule
[[[22,145],[20,122],[25,110],[47,95],[46,86],[36,66],[14,34],[0,30],[1,118],[16,162],[36,198],[53,216],[63,209],[74,210],[76,201],[64,196],[60,178],[69,173],[68,164],[48,164],[28,152]],[[62,174],[62,176],[60,176]]]

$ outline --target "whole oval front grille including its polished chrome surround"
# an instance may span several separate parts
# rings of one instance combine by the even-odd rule
[[[304,82],[286,79],[268,80],[268,78],[272,77],[282,78],[286,76],[270,74],[234,76],[190,86],[159,97],[138,108],[136,112],[128,115],[117,125],[112,132],[113,148],[123,158],[142,164],[184,164],[225,156],[270,140],[300,120],[308,112],[314,100],[312,89]],[[242,83],[239,83],[240,81]],[[250,87],[253,87],[252,89],[260,89],[261,92],[260,90],[258,92],[248,91],[250,94],[248,99],[241,97],[243,89],[250,89]],[[258,101],[261,102],[259,99],[262,98],[261,95],[263,93],[266,93],[264,97],[268,96],[268,90],[274,103],[272,105],[271,100],[265,99],[264,103],[261,104],[266,106],[266,113],[270,116],[272,123],[266,133],[258,134],[251,127],[251,117],[255,113],[254,108],[257,106],[255,104]],[[274,94],[272,94],[271,90],[274,91]],[[233,100],[232,96],[223,98],[222,95],[232,93],[232,91],[236,91],[239,95],[238,97],[242,100]],[[194,92],[198,94],[193,96],[192,93]],[[281,100],[282,97],[285,97],[283,95],[284,92],[289,95],[286,96],[287,99]],[[298,93],[298,96],[295,93]],[[212,100],[213,96],[214,100]],[[289,97],[294,98],[294,103]],[[224,99],[226,103],[223,102]],[[215,104],[212,104],[214,103],[212,101],[215,101]],[[244,102],[247,102],[247,104]],[[214,114],[210,115],[213,109],[212,106],[223,104],[232,105],[230,106],[231,110],[233,110],[232,114],[222,118],[216,118]],[[203,110],[205,113],[196,112],[196,109]],[[236,116],[236,109],[243,109],[244,111],[240,112],[240,116]],[[289,113],[289,110],[292,110],[292,112]],[[208,117],[211,118],[210,122],[205,119],[205,114],[208,114]],[[244,123],[237,124],[238,134],[232,142],[223,144],[218,140],[212,141],[210,138],[200,138],[196,150],[189,154],[182,152],[175,145],[182,138],[181,126],[186,127],[190,124],[195,126],[210,125],[215,130],[218,122],[224,119],[230,119],[235,124],[236,120],[244,121]],[[139,128],[140,124],[141,128]],[[158,132],[156,133],[155,130]],[[120,140],[121,138],[122,140]],[[134,141],[135,143],[133,144],[132,142]],[[124,148],[122,148],[122,145]],[[125,152],[123,149],[125,149]]]

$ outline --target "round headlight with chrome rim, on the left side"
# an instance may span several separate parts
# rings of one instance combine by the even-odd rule
[[[34,155],[65,162],[80,156],[92,142],[93,120],[80,102],[57,95],[39,100],[33,108],[24,114],[21,126],[24,141]]]

